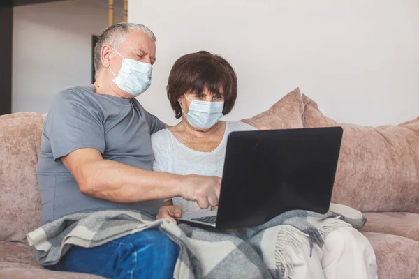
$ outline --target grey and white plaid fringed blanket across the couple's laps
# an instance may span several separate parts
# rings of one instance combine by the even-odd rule
[[[287,278],[291,250],[323,244],[325,234],[341,226],[360,229],[365,216],[340,204],[330,211],[288,211],[263,225],[212,232],[138,211],[76,213],[27,235],[42,265],[56,264],[71,246],[95,247],[144,229],[159,229],[180,246],[173,278]]]

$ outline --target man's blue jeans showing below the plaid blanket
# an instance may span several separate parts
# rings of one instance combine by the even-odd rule
[[[94,248],[73,246],[49,269],[105,278],[173,278],[179,246],[157,229],[124,236]]]

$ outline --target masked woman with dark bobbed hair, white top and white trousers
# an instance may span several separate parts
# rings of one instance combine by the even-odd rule
[[[186,54],[170,72],[168,98],[177,126],[152,135],[154,170],[174,174],[222,176],[229,133],[254,130],[242,122],[221,121],[237,98],[237,77],[230,64],[209,52]],[[197,204],[182,197],[165,202],[158,218],[210,210],[216,197]],[[249,205],[251,206],[251,205]],[[325,236],[322,247],[314,245],[291,255],[290,278],[376,278],[376,260],[369,241],[352,227],[340,227]],[[311,255],[310,255],[311,254]],[[355,272],[354,272],[355,271]]]

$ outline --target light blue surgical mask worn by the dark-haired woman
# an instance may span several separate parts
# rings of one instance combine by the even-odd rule
[[[188,96],[185,97],[189,100]],[[205,102],[203,100],[189,100],[189,112],[186,114],[189,124],[197,129],[207,130],[223,117],[224,102]],[[180,103],[179,103],[180,104]],[[180,109],[185,114],[182,104]]]

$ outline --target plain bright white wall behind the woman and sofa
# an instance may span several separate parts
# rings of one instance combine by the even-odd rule
[[[189,52],[222,54],[239,98],[226,118],[267,109],[300,86],[341,122],[396,124],[419,116],[418,0],[142,0],[128,20],[157,37],[149,91],[138,99],[175,123],[166,100],[172,64]]]

